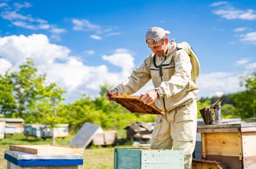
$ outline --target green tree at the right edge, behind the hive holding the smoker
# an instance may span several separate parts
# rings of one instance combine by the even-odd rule
[[[246,90],[232,96],[236,104],[236,114],[242,119],[256,116],[256,73],[242,77],[241,86]]]

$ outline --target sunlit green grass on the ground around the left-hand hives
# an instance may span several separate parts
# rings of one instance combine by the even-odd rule
[[[69,145],[74,135],[69,135],[65,139],[56,139],[57,145]],[[15,135],[5,135],[5,138],[0,141],[0,169],[6,169],[7,160],[4,159],[5,149],[9,149],[9,145],[22,144],[51,144],[51,139],[40,139],[34,137],[26,137],[22,133]],[[131,145],[117,145],[116,147],[131,147]],[[79,169],[112,169],[114,168],[114,147],[96,147],[92,145],[90,149],[84,150],[84,165],[79,166]]]

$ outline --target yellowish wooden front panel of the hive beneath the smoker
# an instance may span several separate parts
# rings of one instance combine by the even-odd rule
[[[204,133],[206,155],[240,156],[239,133]]]

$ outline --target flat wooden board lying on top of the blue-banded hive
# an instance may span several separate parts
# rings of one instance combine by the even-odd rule
[[[59,145],[10,145],[10,150],[38,155],[83,154],[83,149]]]

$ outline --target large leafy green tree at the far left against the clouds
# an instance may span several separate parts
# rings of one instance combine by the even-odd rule
[[[46,84],[46,75],[38,74],[28,58],[18,71],[0,76],[0,105],[5,117],[23,118],[26,123],[52,124],[54,109],[63,100],[56,83]]]

